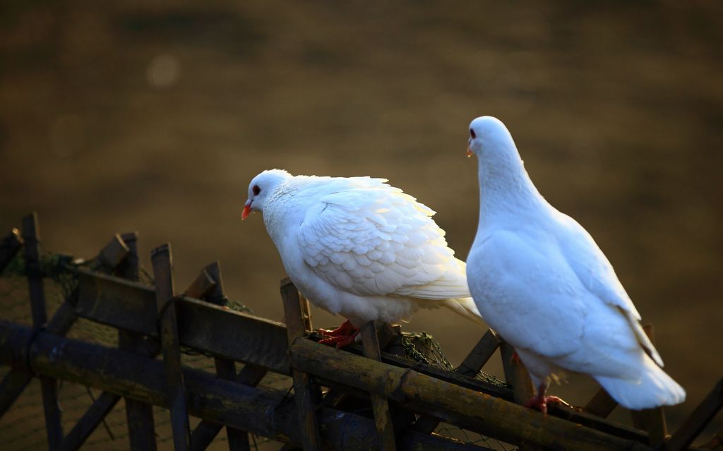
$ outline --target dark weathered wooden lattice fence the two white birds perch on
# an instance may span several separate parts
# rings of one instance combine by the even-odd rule
[[[0,417],[38,377],[51,450],[79,449],[121,398],[132,450],[156,449],[152,405],[170,410],[176,450],[204,450],[226,427],[231,450],[249,450],[252,433],[305,451],[487,449],[435,434],[442,421],[523,450],[684,450],[723,405],[722,380],[672,437],[662,409],[634,412],[633,427],[607,421],[616,404],[603,390],[582,411],[556,405],[544,416],[519,405],[529,376],[492,330],[455,371],[393,352],[401,336],[389,325],[364,325],[361,348],[338,351],[315,343],[308,303],[288,280],[286,325],[224,308],[218,263],[177,294],[167,244],[152,253],[155,289],[139,283],[134,233],[114,236],[90,269],[72,269],[77,287],[48,320],[39,243],[33,214],[0,244],[0,270],[24,245],[33,317],[33,327],[0,320],[0,364],[12,366]],[[118,348],[65,338],[77,318],[117,329]],[[215,374],[182,365],[181,346],[213,356]],[[508,386],[474,378],[497,348]],[[290,377],[293,395],[264,385],[269,372]],[[67,434],[59,380],[103,390]],[[360,403],[373,414],[348,408]],[[189,415],[202,418],[193,430]]]

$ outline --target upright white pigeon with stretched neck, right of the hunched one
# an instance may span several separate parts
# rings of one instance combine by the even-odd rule
[[[479,160],[479,227],[470,291],[490,327],[515,347],[547,411],[551,379],[589,374],[630,409],[674,405],[685,390],[662,369],[633,301],[592,237],[539,194],[501,121],[470,124]],[[551,399],[552,398],[552,399]]]

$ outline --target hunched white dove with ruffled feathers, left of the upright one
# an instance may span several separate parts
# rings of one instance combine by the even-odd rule
[[[368,321],[398,322],[445,306],[482,322],[465,263],[434,211],[369,177],[255,176],[241,218],[262,212],[288,278],[316,306],[348,321],[323,343],[348,345]]]

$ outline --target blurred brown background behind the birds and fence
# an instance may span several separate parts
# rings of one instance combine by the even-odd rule
[[[137,230],[143,255],[171,242],[178,288],[220,259],[229,297],[281,319],[278,254],[259,215],[240,220],[252,176],[388,178],[437,211],[464,258],[478,207],[467,125],[490,114],[655,325],[688,390],[672,428],[723,374],[723,4],[1,8],[3,234],[38,210],[45,249],[90,257]],[[406,329],[435,335],[453,363],[481,333],[447,312]],[[553,387],[573,403],[594,390],[584,377]]]

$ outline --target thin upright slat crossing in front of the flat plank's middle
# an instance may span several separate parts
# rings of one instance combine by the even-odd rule
[[[163,244],[153,249],[150,259],[153,262],[155,301],[158,306],[158,319],[161,328],[163,364],[166,368],[168,406],[171,410],[174,448],[177,451],[189,451],[191,449],[191,434],[183,372],[181,371],[181,350],[179,348],[178,318],[174,302],[171,245]]]

